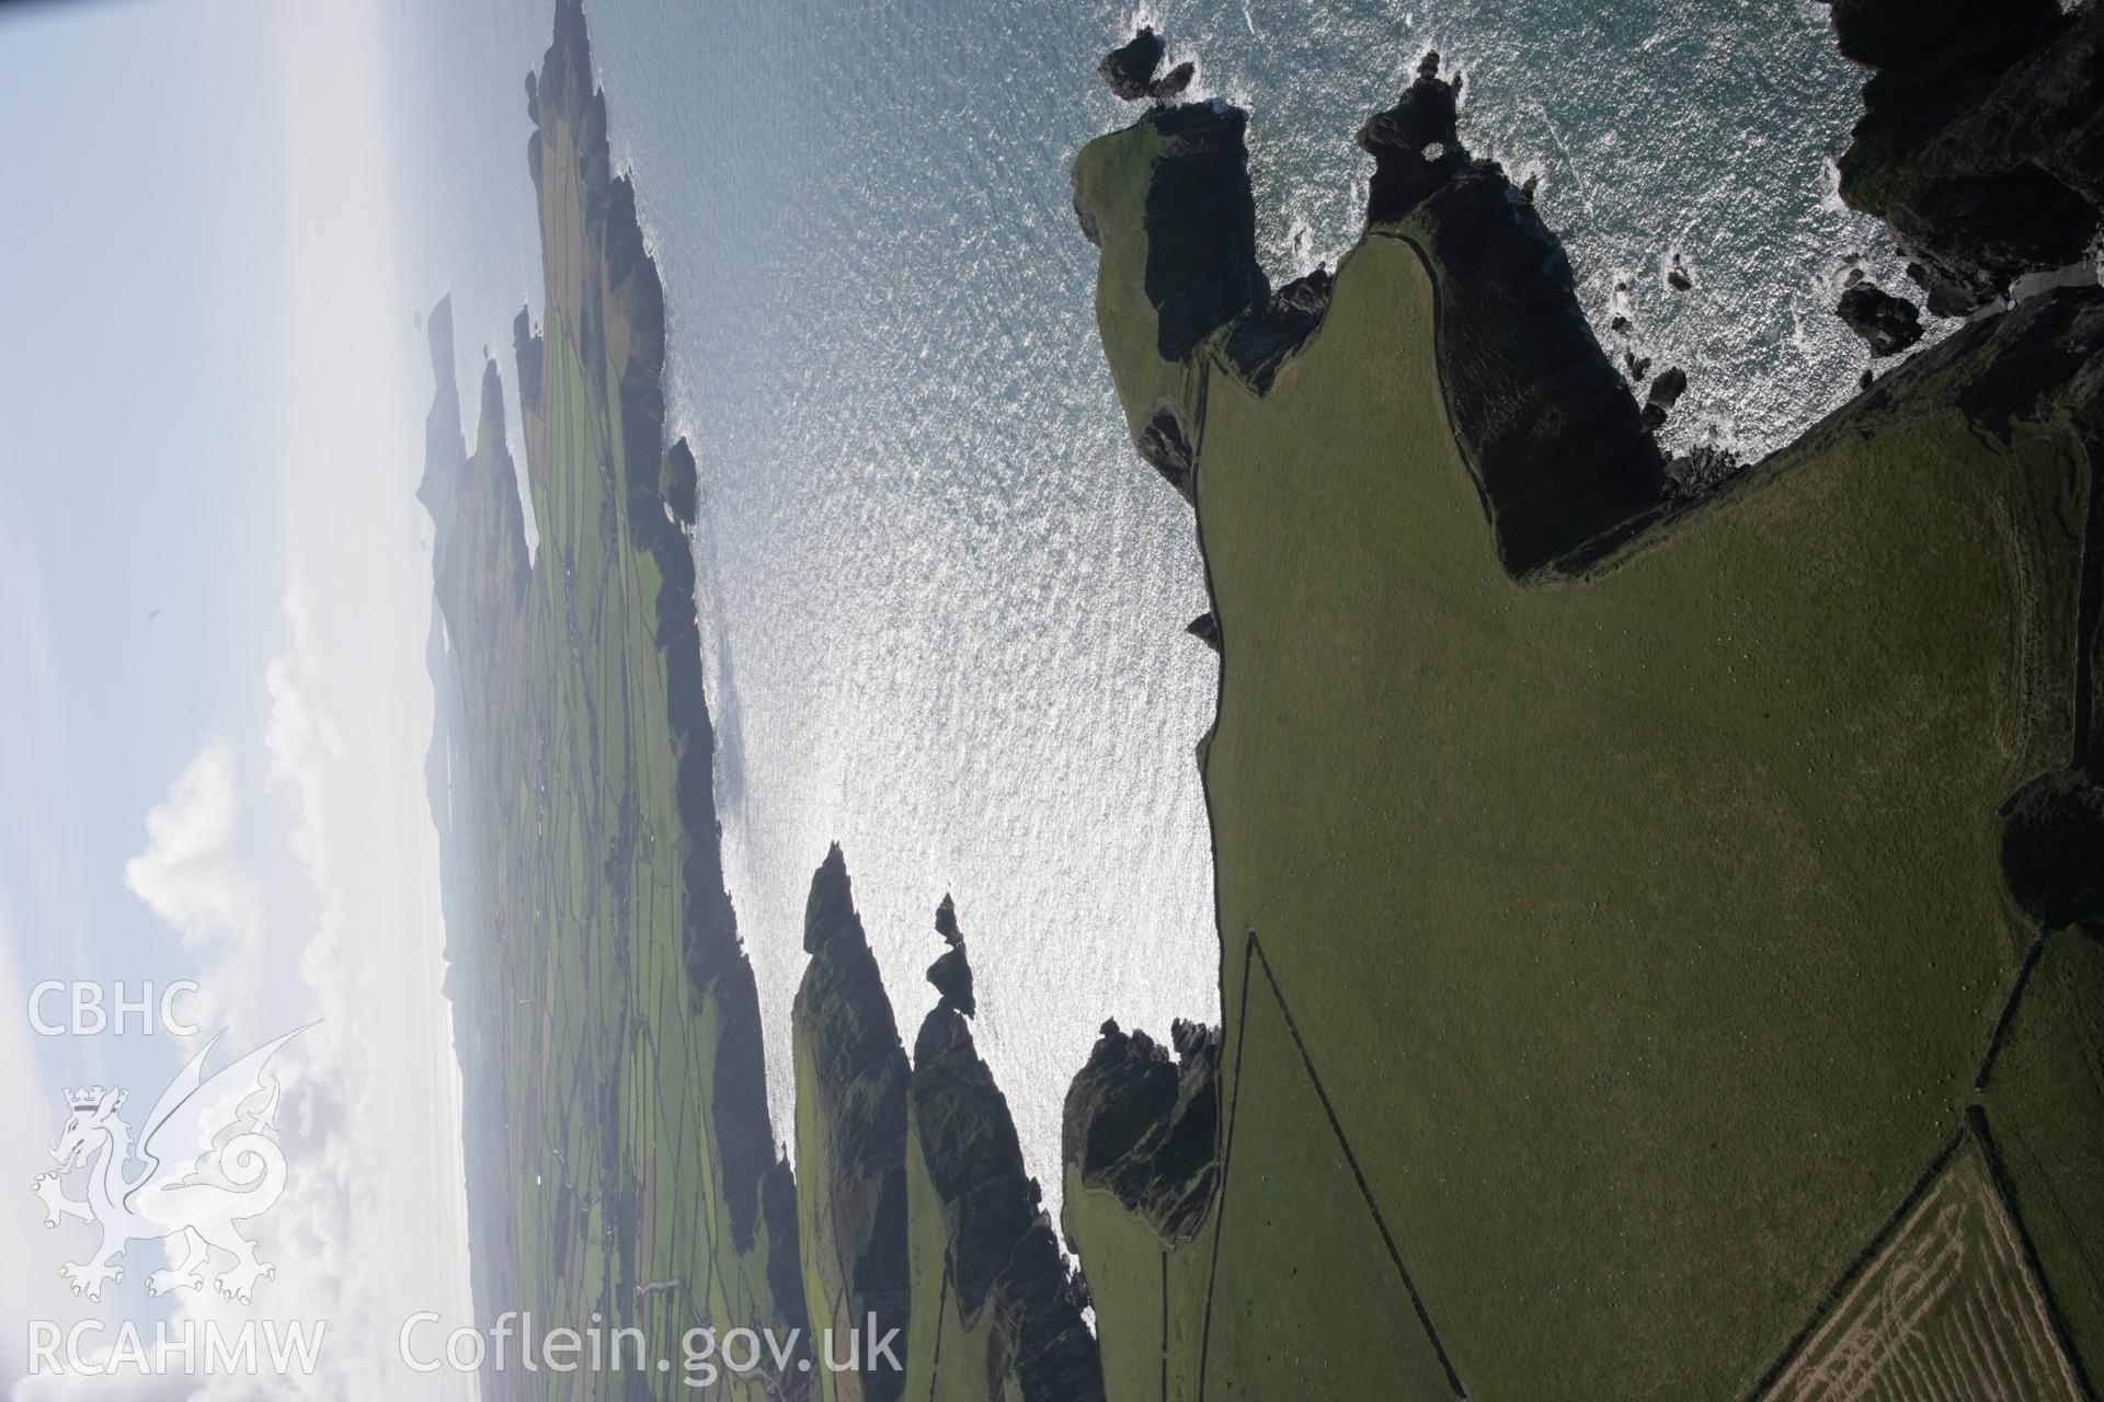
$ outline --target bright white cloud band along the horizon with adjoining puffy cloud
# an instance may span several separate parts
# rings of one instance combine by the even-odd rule
[[[246,330],[282,347],[290,383],[269,404],[244,399],[229,412],[280,420],[282,540],[301,568],[286,591],[290,643],[261,677],[261,757],[252,736],[200,748],[154,807],[145,851],[124,879],[198,952],[200,982],[238,1026],[223,1057],[322,1017],[274,1068],[288,1183],[274,1211],[246,1223],[278,1276],[250,1307],[179,1295],[177,1318],[326,1320],[328,1337],[311,1379],[198,1377],[181,1391],[473,1396],[473,1379],[412,1377],[396,1360],[408,1314],[442,1312],[450,1328],[471,1318],[471,1301],[461,1087],[421,763],[431,734],[431,578],[412,492],[429,370],[393,269],[404,221],[387,204],[387,111],[377,97],[391,90],[379,42],[387,13],[244,13],[276,32],[280,63],[255,76],[282,88],[282,149],[297,156],[265,170],[290,210],[292,280],[274,294],[286,324]],[[284,811],[257,778],[290,809],[282,834],[269,824]],[[276,862],[257,860],[276,858],[265,843],[280,837],[311,887],[305,925],[284,919]],[[257,870],[271,881],[259,883]],[[259,963],[225,977],[202,967],[248,954]],[[139,1099],[151,1104],[145,1089]],[[0,1169],[6,1162],[0,1156]],[[8,1192],[0,1179],[0,1219]],[[27,1192],[21,1209],[34,1211]],[[139,1244],[126,1265],[145,1272],[158,1255]],[[0,1387],[6,1379],[0,1373]],[[95,1389],[84,1379],[84,1396],[143,1391],[101,1381]]]

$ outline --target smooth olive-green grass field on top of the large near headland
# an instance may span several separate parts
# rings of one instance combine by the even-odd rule
[[[1077,164],[1134,427],[1176,374],[1138,132]],[[1227,635],[1220,929],[1260,931],[1475,1396],[1729,1396],[1953,1133],[2028,942],[1995,807],[2068,750],[2077,456],[1921,395],[1519,589],[1431,328],[1418,254],[1372,240],[1269,399],[1206,349],[1185,374]],[[1304,1122],[1252,1078],[1235,1152]],[[1229,1223],[1246,1198],[1328,1211],[1231,1181]],[[1265,1270],[1222,1255],[1218,1293]]]

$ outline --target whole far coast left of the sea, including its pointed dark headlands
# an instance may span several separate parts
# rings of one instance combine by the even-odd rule
[[[684,530],[699,473],[684,441],[665,446],[663,288],[635,191],[610,170],[574,0],[526,95],[547,275],[541,328],[526,311],[515,326],[537,549],[494,364],[473,454],[461,439],[444,303],[421,488],[476,1307],[484,1326],[522,1312],[534,1331],[646,1339],[640,1373],[528,1373],[513,1356],[484,1387],[1100,1398],[1084,1295],[972,1045],[955,908],[936,921],[943,1001],[909,1066],[837,849],[812,883],[795,1005],[802,1181],[778,1154],[722,872]],[[682,1358],[699,1326],[772,1331],[787,1360],[696,1391]],[[877,1354],[894,1328],[901,1368]],[[833,1368],[854,1354],[863,1370]]]

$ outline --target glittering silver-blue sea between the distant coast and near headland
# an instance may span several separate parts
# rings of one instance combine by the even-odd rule
[[[789,1137],[810,874],[839,843],[911,1045],[955,898],[976,1038],[1058,1194],[1060,1104],[1098,1026],[1218,1019],[1195,746],[1216,660],[1193,521],[1126,437],[1069,166],[1136,114],[1096,59],[1138,23],[1243,105],[1273,282],[1336,265],[1353,145],[1427,50],[1462,137],[1616,315],[1687,370],[1673,448],[1759,458],[1854,393],[1833,303],[1891,290],[1835,198],[1862,74],[1814,0],[602,0],[614,162],[667,290],[726,872]],[[541,303],[524,76],[547,0],[404,4],[400,181],[463,387]],[[1692,284],[1668,284],[1675,261]],[[408,319],[412,307],[404,307]],[[1931,330],[1942,334],[1942,326]],[[513,441],[518,439],[515,404]]]

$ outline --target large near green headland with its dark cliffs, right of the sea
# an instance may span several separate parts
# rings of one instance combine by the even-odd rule
[[[1925,1246],[2009,1331],[1953,1396],[2089,1396],[2104,294],[1690,492],[1431,63],[1321,286],[1243,124],[1075,166],[1222,645],[1201,1259],[1069,1135],[1111,1396],[1746,1396]]]

